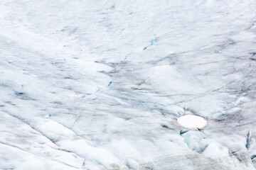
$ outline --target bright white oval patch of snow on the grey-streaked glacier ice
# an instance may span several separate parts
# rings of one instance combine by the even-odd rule
[[[207,124],[207,121],[198,115],[183,115],[177,118],[177,121],[183,128],[190,130],[203,129]]]

